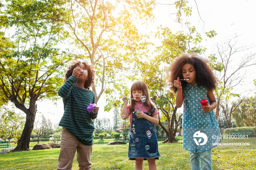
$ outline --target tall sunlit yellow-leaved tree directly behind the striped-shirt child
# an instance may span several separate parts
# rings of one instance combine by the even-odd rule
[[[50,1],[54,4],[54,1]],[[80,50],[77,58],[90,59],[96,70],[96,83],[92,90],[96,103],[107,89],[122,87],[125,80],[132,80],[133,63],[147,53],[147,36],[136,28],[153,19],[155,0],[104,1],[70,0],[63,3],[65,11],[44,16],[54,22],[64,23],[74,35],[73,45]],[[127,76],[129,74],[129,76]],[[95,86],[101,88],[97,93]]]

